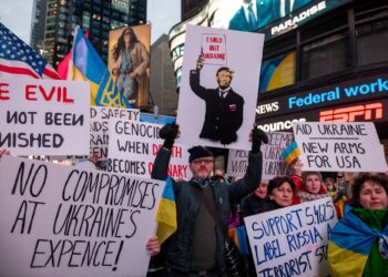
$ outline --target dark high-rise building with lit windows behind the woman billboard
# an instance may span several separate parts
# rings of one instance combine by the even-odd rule
[[[70,51],[75,25],[89,31],[89,40],[106,62],[110,30],[146,23],[146,0],[47,0],[45,8],[42,51],[54,66]]]

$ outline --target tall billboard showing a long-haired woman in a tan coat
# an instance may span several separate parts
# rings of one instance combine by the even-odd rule
[[[108,68],[133,107],[149,106],[150,42],[150,24],[125,27],[109,33]]]

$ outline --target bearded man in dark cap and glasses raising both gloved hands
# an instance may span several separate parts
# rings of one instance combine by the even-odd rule
[[[155,158],[153,178],[167,178],[171,148],[177,133],[176,124],[166,124],[161,129],[160,136],[164,144]],[[268,142],[265,133],[258,129],[251,136],[252,151],[245,176],[231,185],[211,179],[214,156],[210,150],[203,146],[188,150],[193,177],[190,181],[173,182],[177,230],[162,245],[166,276],[226,276],[224,243],[231,205],[254,192],[259,184],[261,144]],[[204,198],[214,205],[225,232],[215,224]]]

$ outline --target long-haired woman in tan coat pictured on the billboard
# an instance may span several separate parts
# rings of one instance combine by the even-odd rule
[[[150,85],[146,71],[150,66],[150,54],[131,27],[124,29],[113,47],[113,60],[115,64],[112,74],[116,79],[120,93],[137,106],[139,92],[147,91]]]

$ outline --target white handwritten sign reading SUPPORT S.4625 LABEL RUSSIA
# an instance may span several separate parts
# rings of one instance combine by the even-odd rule
[[[328,236],[337,223],[331,198],[244,218],[257,276],[328,276]]]

